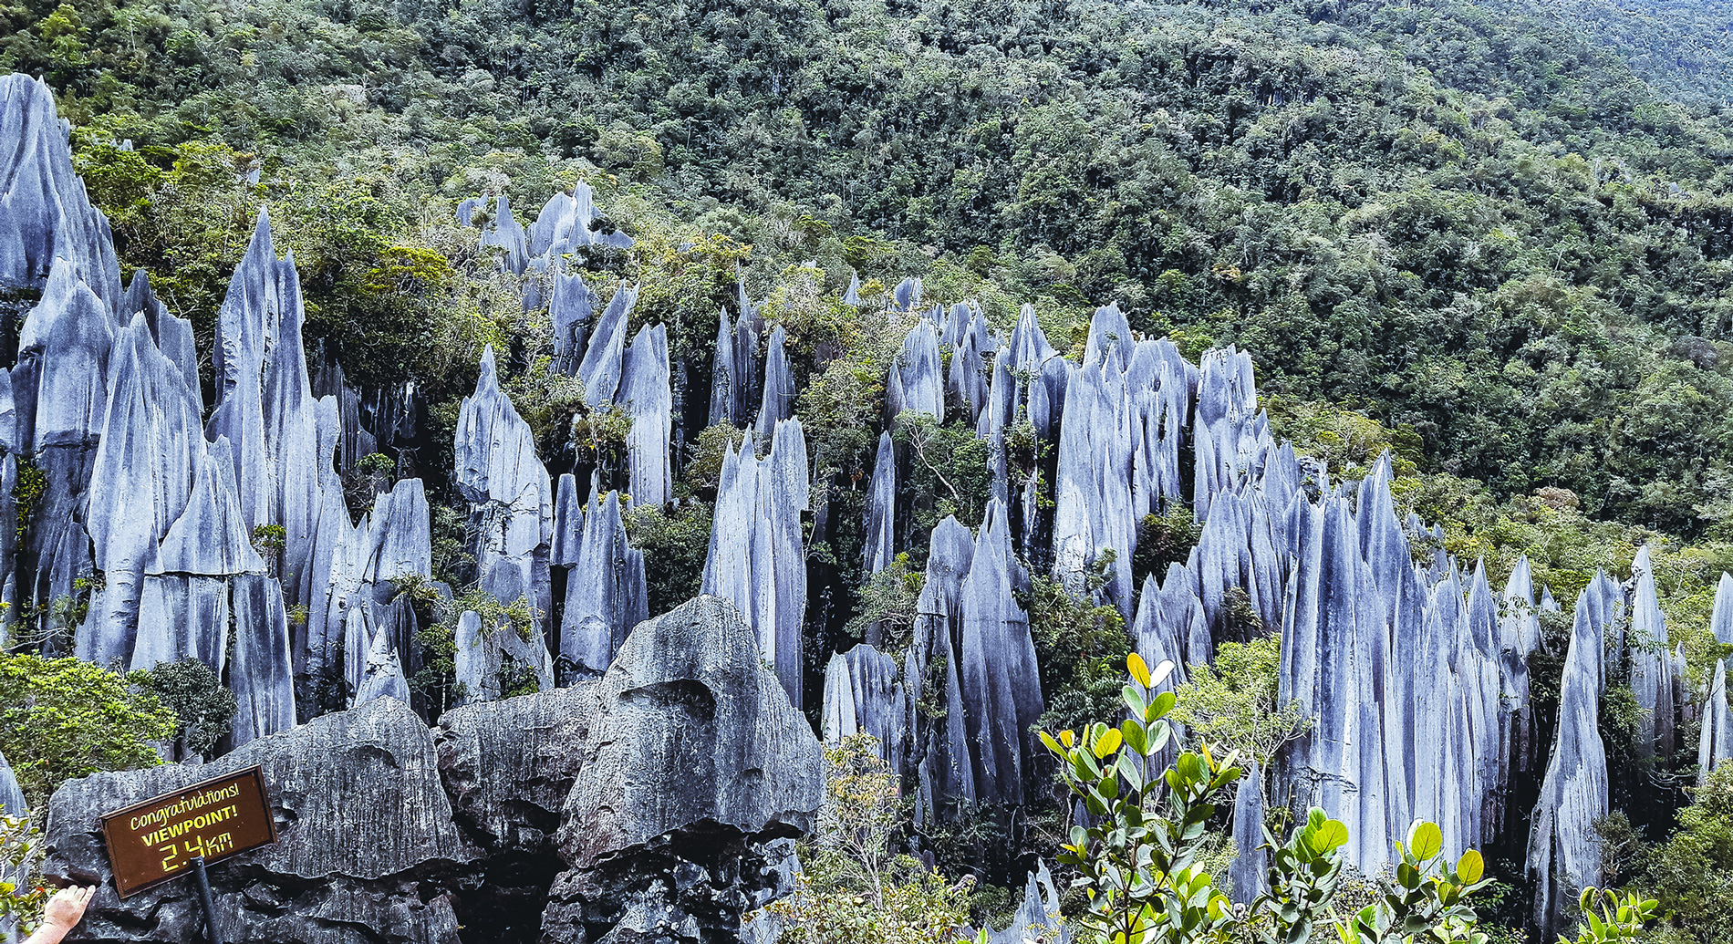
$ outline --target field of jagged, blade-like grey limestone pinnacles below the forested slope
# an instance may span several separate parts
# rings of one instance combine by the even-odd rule
[[[1390,840],[1412,819],[1437,821],[1454,856],[1494,838],[1509,845],[1532,807],[1529,866],[1539,889],[1535,920],[1548,932],[1558,930],[1577,887],[1600,878],[1589,823],[1606,811],[1596,721],[1610,672],[1629,670],[1645,708],[1639,752],[1688,750],[1678,726],[1695,721],[1693,712],[1702,714],[1704,769],[1733,750],[1724,686],[1688,688],[1683,653],[1669,651],[1646,549],[1627,587],[1603,575],[1577,601],[1565,707],[1548,731],[1530,707],[1529,679],[1530,656],[1542,648],[1539,615],[1556,608],[1548,589],[1535,587],[1520,561],[1496,592],[1482,565],[1444,553],[1442,530],[1399,514],[1388,459],[1359,483],[1333,483],[1321,464],[1275,442],[1258,411],[1249,353],[1211,350],[1194,365],[1172,341],[1139,338],[1109,305],[1094,312],[1081,359],[1069,360],[1033,308],[1002,326],[1007,336],[972,303],[925,298],[913,277],[865,303],[854,277],[844,296],[861,317],[912,326],[886,378],[891,416],[877,417],[872,431],[905,411],[972,426],[988,445],[991,501],[979,533],[955,518],[932,530],[906,650],[882,651],[892,643],[875,629],[866,646],[821,651],[809,663],[802,650],[815,644],[813,627],[823,624],[818,639],[830,644],[841,620],[823,606],[808,613],[808,584],[820,587],[815,599],[835,599],[834,573],[853,568],[827,561],[809,572],[808,542],[839,547],[837,537],[854,537],[842,533],[856,527],[854,514],[832,514],[823,490],[858,483],[809,480],[789,326],[766,324],[742,282],[735,315],[717,320],[714,352],[681,350],[691,338],[674,338],[671,350],[674,326],[648,324],[643,312],[645,324],[629,334],[638,289],[620,284],[600,307],[568,262],[629,244],[624,234],[598,232],[584,187],[555,194],[529,229],[504,197],[459,206],[463,222],[482,222],[480,242],[497,251],[501,270],[522,277],[523,317],[539,319],[546,308],[553,369],[582,381],[587,407],[617,409],[631,423],[624,469],[589,478],[570,454],[537,456],[494,352],[482,357],[452,442],[475,580],[492,598],[475,601],[433,580],[435,514],[419,480],[373,485],[367,514],[350,518],[348,501],[359,511],[367,497],[345,495],[345,473],[378,450],[402,452],[428,404],[407,386],[350,388],[336,352],[321,350],[310,376],[295,263],[277,258],[269,217],[260,215],[218,314],[217,397],[206,417],[192,327],[166,312],[142,274],[121,291],[107,225],[71,173],[47,90],[21,76],[0,80],[0,128],[19,142],[0,154],[0,237],[16,236],[0,239],[0,315],[28,308],[17,362],[0,371],[5,636],[28,630],[50,653],[71,650],[123,667],[201,658],[237,693],[232,740],[243,752],[286,743],[269,736],[296,721],[319,724],[317,715],[350,703],[367,714],[409,700],[432,714],[418,634],[435,620],[456,637],[459,686],[449,703],[607,672],[648,615],[646,563],[627,540],[622,504],[638,511],[686,501],[674,488],[676,457],[705,417],[750,435],[723,462],[702,589],[740,610],[794,708],[827,665],[827,736],[877,736],[927,823],[958,804],[1024,802],[1040,783],[1043,755],[1028,727],[1045,705],[1028,618],[1016,605],[1029,570],[1081,592],[1100,568],[1106,585],[1095,601],[1120,608],[1147,662],[1178,665],[1170,686],[1223,643],[1282,634],[1281,698],[1314,724],[1260,771],[1265,788],[1243,795],[1243,805],[1263,797],[1324,805],[1348,823],[1347,856],[1362,871],[1388,864]],[[0,353],[10,353],[7,326],[16,322],[0,317]],[[707,402],[688,383],[704,376],[705,359]],[[399,459],[407,473],[412,459]],[[908,533],[910,511],[931,508],[898,494],[908,482],[898,461],[886,430],[860,516],[868,575],[920,544]],[[544,462],[567,468],[551,475]],[[444,483],[428,488],[440,494]],[[31,504],[19,494],[38,497]],[[1139,521],[1185,497],[1201,527],[1196,547],[1135,585]],[[66,615],[85,603],[81,625],[68,625]],[[529,617],[503,617],[508,610]],[[1619,613],[1629,613],[1629,624]],[[1723,577],[1710,629],[1733,643],[1733,577]],[[608,717],[698,710],[704,698],[691,681],[619,693]],[[563,696],[548,693],[534,710],[473,705],[473,717],[560,712],[567,708],[553,705]],[[468,724],[461,717],[470,715],[452,724]],[[315,734],[308,726],[289,738]],[[587,736],[560,738],[603,750]],[[560,778],[582,779],[575,767],[561,771],[537,793],[541,812],[523,812],[542,826],[525,830],[546,835]],[[466,809],[459,821],[492,823],[482,845],[504,849],[496,830],[504,821],[489,816]],[[735,823],[731,861],[771,868],[780,854],[756,852],[742,838],[766,833],[754,823]],[[582,863],[579,847],[565,849],[574,859],[558,861],[572,866],[555,909],[567,928],[558,934],[584,925],[629,937],[657,920],[704,928],[742,896],[771,887],[712,873],[690,887],[707,889],[697,897],[657,897],[662,892],[633,885],[622,909],[601,908],[607,889],[626,889],[605,861],[672,861],[657,859],[665,854],[660,840],[633,830],[613,838],[584,833],[584,842],[615,847],[584,852]],[[693,838],[681,830],[679,842]],[[539,849],[539,878],[511,876],[511,901],[537,897],[535,882],[551,882],[556,866],[546,856],[555,854]],[[1249,868],[1251,852],[1246,859]],[[412,921],[423,918],[406,915],[425,916],[445,892],[440,885],[412,896],[423,904],[393,911],[392,927],[421,928]],[[388,897],[367,894],[373,904]],[[709,904],[693,904],[698,899]],[[487,908],[497,913],[501,902]],[[184,921],[175,908],[182,904],[165,904],[165,921]],[[683,923],[688,918],[697,923]],[[442,918],[428,920],[444,927]]]

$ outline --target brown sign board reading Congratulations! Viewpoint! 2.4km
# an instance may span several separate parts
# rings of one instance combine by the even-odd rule
[[[180,876],[194,856],[220,863],[277,842],[277,821],[255,767],[194,783],[102,818],[120,897]]]

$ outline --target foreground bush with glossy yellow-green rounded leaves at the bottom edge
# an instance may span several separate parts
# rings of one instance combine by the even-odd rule
[[[1201,745],[1158,769],[1156,759],[1173,743],[1168,714],[1175,696],[1147,693],[1166,681],[1173,665],[1165,662],[1151,676],[1133,653],[1126,669],[1135,684],[1121,691],[1126,719],[1118,727],[1094,722],[1081,734],[1042,733],[1061,778],[1094,819],[1073,826],[1059,852],[1061,863],[1080,871],[1073,883],[1088,896],[1080,921],[1085,941],[1298,944],[1329,927],[1343,944],[1487,942],[1470,906],[1470,897],[1490,883],[1482,878],[1480,852],[1470,849],[1449,866],[1442,859],[1444,835],[1431,823],[1414,823],[1407,842],[1395,844],[1395,883],[1373,904],[1343,916],[1334,904],[1348,828],[1312,809],[1286,844],[1265,830],[1270,890],[1246,908],[1234,906],[1199,866],[1199,854],[1210,818],[1241,778],[1234,764],[1239,752],[1217,759]],[[1598,913],[1591,902],[1601,906]],[[1606,944],[1639,934],[1657,902],[1589,889],[1582,908],[1587,928],[1575,944]]]

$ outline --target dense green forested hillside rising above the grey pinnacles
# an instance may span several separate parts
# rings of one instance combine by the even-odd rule
[[[421,319],[378,312],[354,270],[393,244],[449,255],[428,197],[589,177],[631,194],[620,213],[750,242],[749,286],[825,253],[834,279],[846,253],[1052,310],[1118,300],[1192,350],[1241,341],[1270,390],[1412,430],[1426,468],[1499,494],[1563,487],[1688,535],[1733,501],[1728,139],[1544,19],[102,0],[7,26],[3,62],[62,90],[127,263],[208,322],[251,204],[305,206],[331,293],[314,326],[366,333],[374,378],[425,372]],[[104,145],[123,139],[133,156]],[[262,189],[229,187],[230,161]]]

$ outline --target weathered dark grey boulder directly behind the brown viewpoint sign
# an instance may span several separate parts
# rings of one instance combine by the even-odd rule
[[[211,870],[225,941],[458,942],[451,890],[473,850],[452,824],[433,733],[395,700],[260,738],[211,764],[95,774],[55,792],[45,871],[99,887],[83,941],[203,939],[191,882],[116,897],[97,814],[253,764],[265,771],[277,842]]]

